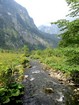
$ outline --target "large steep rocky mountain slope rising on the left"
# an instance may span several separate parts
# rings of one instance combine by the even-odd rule
[[[51,37],[38,30],[24,7],[14,0],[0,0],[0,48],[53,47],[55,40]]]

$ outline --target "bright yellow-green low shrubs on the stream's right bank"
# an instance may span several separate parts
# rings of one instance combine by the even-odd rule
[[[33,52],[31,57],[39,59],[53,69],[61,70],[65,73],[72,73],[73,70],[79,71],[79,59],[77,59],[78,54],[78,48],[47,48],[45,50]]]

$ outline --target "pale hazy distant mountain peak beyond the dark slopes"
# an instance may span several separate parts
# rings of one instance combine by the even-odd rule
[[[59,34],[60,29],[56,24],[52,24],[50,26],[41,25],[38,27],[38,29],[42,32],[49,33],[49,34]]]

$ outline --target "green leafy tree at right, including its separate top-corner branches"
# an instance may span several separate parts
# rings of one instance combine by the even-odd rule
[[[79,0],[66,0],[70,6],[70,16],[78,16],[79,15]],[[52,23],[53,24],[53,23]],[[66,19],[58,20],[54,22],[54,24],[58,24],[59,28],[61,28],[62,33],[60,36],[62,40],[60,41],[60,46],[62,47],[79,47],[79,17],[73,21],[68,21]]]

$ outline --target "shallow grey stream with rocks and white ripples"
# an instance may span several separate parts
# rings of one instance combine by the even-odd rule
[[[75,105],[73,91],[48,75],[35,60],[25,70],[23,105]]]

